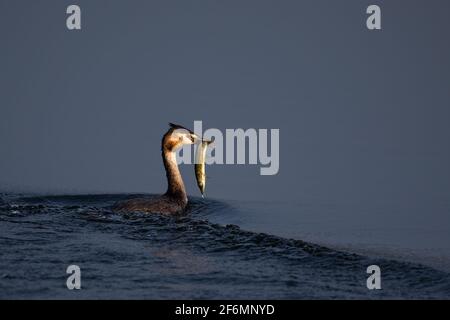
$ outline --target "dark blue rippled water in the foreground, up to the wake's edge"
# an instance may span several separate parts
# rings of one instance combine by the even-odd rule
[[[137,195],[0,199],[0,298],[450,298],[450,275],[419,264],[253,233],[208,216],[238,210],[191,199],[180,217],[111,212]],[[68,265],[82,290],[66,288]],[[382,290],[366,268],[382,265]]]

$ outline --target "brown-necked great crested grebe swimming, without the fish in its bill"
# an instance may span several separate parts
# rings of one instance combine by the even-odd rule
[[[182,126],[169,123],[170,129],[164,134],[161,151],[167,176],[167,192],[156,198],[138,198],[119,202],[113,210],[119,212],[142,211],[159,214],[182,213],[188,204],[183,179],[176,160],[175,152],[185,144],[196,143],[194,132]]]

